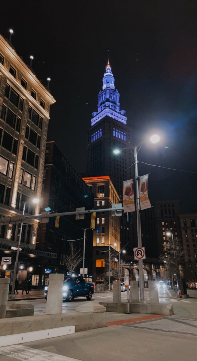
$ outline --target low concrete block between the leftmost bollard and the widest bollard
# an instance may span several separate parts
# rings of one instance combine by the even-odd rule
[[[33,316],[34,305],[26,301],[10,302],[6,310],[6,318]]]

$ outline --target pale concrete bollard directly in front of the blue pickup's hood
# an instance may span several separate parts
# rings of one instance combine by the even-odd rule
[[[51,273],[46,301],[46,314],[62,313],[64,274]]]

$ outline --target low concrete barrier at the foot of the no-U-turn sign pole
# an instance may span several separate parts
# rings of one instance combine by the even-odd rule
[[[126,302],[99,302],[100,305],[106,307],[107,312],[126,313]],[[132,313],[142,314],[158,314],[171,316],[174,314],[172,304],[148,304],[148,303],[130,303],[130,311]]]

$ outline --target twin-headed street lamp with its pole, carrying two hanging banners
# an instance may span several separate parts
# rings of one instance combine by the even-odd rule
[[[160,136],[153,134],[150,138],[152,143],[157,143],[160,140]],[[142,146],[140,143],[135,147],[126,147],[122,149],[114,149],[113,153],[119,155],[122,151],[129,149],[134,150],[134,164],[135,164],[135,190],[136,190],[136,213],[137,213],[137,234],[138,234],[138,247],[142,247],[142,233],[141,233],[141,220],[140,220],[140,204],[139,204],[139,177],[138,177],[138,147]],[[133,152],[132,152],[133,153]],[[143,260],[138,260],[139,265],[139,290],[140,290],[140,301],[144,301],[144,275],[143,275]]]

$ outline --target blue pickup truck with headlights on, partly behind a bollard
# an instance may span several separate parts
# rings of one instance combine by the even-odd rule
[[[87,300],[91,300],[94,293],[95,284],[93,282],[85,282],[82,276],[66,276],[63,282],[63,300],[73,301],[75,297],[86,296]],[[47,299],[48,286],[44,288],[45,299]]]

